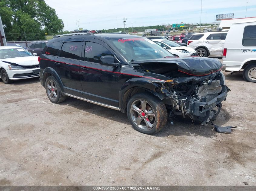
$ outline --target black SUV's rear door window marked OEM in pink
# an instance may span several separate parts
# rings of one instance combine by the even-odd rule
[[[81,59],[81,49],[83,42],[66,42],[63,43],[61,48],[61,57],[71,58],[71,59]]]

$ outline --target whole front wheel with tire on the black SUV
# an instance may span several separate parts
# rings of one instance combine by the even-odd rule
[[[132,96],[126,111],[132,127],[145,134],[159,132],[167,122],[165,104],[158,97],[146,92]]]

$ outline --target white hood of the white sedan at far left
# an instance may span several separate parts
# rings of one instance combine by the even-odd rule
[[[2,62],[10,62],[10,63],[15,63],[18,65],[24,65],[24,66],[29,66],[29,65],[38,65],[38,56],[24,56],[24,57],[16,57],[16,58],[5,58],[1,59]]]

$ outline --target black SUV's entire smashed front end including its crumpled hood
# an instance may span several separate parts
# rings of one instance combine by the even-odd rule
[[[140,70],[169,78],[155,83],[170,117],[192,119],[202,125],[215,120],[230,89],[225,85],[222,64],[217,59],[175,58],[140,62]]]

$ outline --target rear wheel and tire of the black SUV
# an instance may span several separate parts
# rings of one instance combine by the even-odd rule
[[[52,103],[61,103],[66,99],[66,96],[62,95],[58,81],[53,76],[49,76],[46,79],[45,90],[49,100]]]

